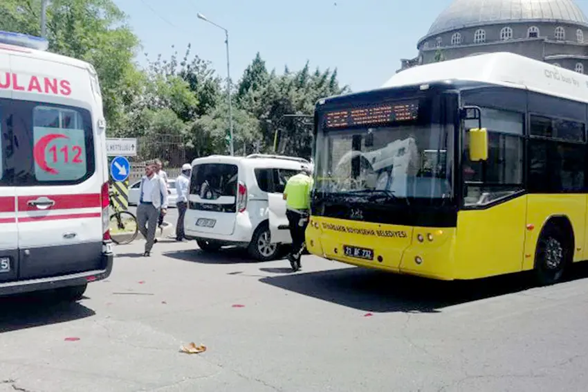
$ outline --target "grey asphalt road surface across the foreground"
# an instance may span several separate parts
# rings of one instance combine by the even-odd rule
[[[585,391],[588,272],[452,285],[194,242],[116,247],[86,299],[1,302],[0,391]],[[66,340],[68,338],[73,338]],[[79,339],[79,340],[78,340]],[[194,341],[208,350],[178,352]]]

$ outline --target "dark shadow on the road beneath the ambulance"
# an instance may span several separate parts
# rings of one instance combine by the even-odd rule
[[[65,323],[94,314],[81,303],[60,303],[47,293],[10,296],[0,299],[0,332]]]

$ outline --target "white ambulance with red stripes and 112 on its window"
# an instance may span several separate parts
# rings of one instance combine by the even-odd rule
[[[107,278],[105,122],[90,64],[0,32],[0,295]]]

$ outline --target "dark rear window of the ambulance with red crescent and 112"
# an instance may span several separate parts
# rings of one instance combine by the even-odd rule
[[[79,184],[95,172],[91,114],[87,109],[0,100],[7,154],[5,173],[15,186]]]

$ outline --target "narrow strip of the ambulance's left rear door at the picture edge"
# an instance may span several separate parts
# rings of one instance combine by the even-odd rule
[[[1,75],[10,71],[8,60],[8,55],[0,53],[0,83],[6,82]],[[9,89],[0,89],[0,282],[17,278],[19,262],[15,187],[10,181],[13,145],[8,125],[11,97]]]

